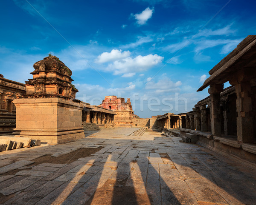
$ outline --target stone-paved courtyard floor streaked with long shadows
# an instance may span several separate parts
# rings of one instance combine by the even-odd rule
[[[151,129],[129,136],[136,130],[85,131],[75,142],[1,152],[0,203],[256,204],[256,169]],[[64,154],[99,147],[58,163]],[[44,155],[56,162],[33,165]]]

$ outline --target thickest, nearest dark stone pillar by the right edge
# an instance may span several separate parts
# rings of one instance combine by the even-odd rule
[[[251,86],[249,82],[236,84],[236,125],[237,140],[244,143],[254,143]]]

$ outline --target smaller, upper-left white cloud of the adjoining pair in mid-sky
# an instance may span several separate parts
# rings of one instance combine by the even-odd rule
[[[109,61],[115,61],[115,60],[129,57],[130,54],[131,54],[130,51],[122,52],[122,50],[113,49],[110,53],[104,52],[100,54],[95,61],[96,63],[106,63]]]

